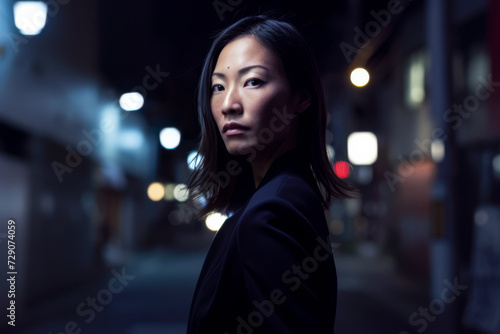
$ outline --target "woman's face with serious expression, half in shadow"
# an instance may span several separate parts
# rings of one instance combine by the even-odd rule
[[[294,143],[297,112],[277,54],[253,36],[222,49],[212,74],[212,115],[233,155],[270,157]]]

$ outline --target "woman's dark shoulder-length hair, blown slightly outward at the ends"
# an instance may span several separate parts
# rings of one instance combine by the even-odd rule
[[[204,197],[199,216],[212,212],[231,212],[241,206],[253,191],[248,161],[228,153],[212,116],[210,100],[212,73],[222,49],[242,36],[254,36],[279,56],[292,91],[306,90],[311,104],[300,114],[297,148],[309,162],[316,181],[323,188],[323,204],[331,197],[353,197],[356,191],[333,173],[326,153],[326,104],[323,85],[314,56],[299,31],[290,23],[259,15],[245,17],[216,37],[203,65],[198,84],[198,119],[201,138],[200,163],[190,175],[188,189],[194,198]]]

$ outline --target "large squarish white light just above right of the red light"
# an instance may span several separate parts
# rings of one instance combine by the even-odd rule
[[[353,132],[347,138],[347,156],[354,165],[371,165],[377,160],[377,137],[371,132]]]

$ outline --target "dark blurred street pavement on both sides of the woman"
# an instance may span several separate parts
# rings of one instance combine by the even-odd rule
[[[31,310],[17,332],[184,334],[205,254],[158,247],[115,256],[88,284]],[[398,274],[394,261],[379,252],[336,251],[335,259],[337,334],[421,333],[423,326],[411,325],[409,317],[429,304],[425,285]],[[438,333],[437,323],[429,321],[425,333]]]

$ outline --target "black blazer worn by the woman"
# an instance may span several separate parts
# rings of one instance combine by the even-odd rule
[[[337,276],[320,193],[296,150],[279,156],[217,232],[188,334],[333,333]]]

